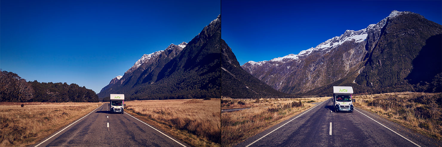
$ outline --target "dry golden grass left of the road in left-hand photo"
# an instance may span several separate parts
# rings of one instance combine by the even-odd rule
[[[24,107],[20,105],[24,104]],[[102,103],[0,102],[0,146],[26,146],[90,113]]]

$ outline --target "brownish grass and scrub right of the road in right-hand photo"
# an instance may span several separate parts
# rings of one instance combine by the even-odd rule
[[[434,139],[442,139],[441,93],[395,92],[353,97],[356,107]]]

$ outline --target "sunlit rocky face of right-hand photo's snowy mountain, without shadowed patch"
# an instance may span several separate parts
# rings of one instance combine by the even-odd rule
[[[346,30],[297,55],[249,61],[242,68],[276,90],[290,94],[331,83],[391,87],[404,84],[412,60],[425,41],[437,34],[441,34],[441,25],[416,13],[392,11],[377,24],[358,31]]]

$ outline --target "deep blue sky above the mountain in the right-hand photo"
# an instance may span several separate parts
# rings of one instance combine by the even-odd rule
[[[378,23],[393,10],[442,24],[441,8],[441,0],[222,0],[222,39],[242,65],[297,54]]]

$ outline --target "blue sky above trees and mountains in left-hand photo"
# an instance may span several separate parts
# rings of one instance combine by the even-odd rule
[[[0,68],[99,93],[143,55],[191,41],[220,1],[1,0]]]

